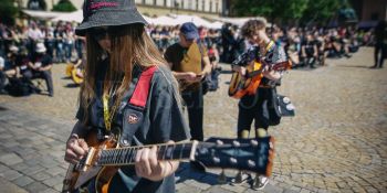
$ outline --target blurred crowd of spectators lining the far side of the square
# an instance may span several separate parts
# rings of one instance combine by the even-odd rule
[[[51,73],[36,73],[33,58],[41,54],[36,50],[44,46],[44,53],[52,63],[77,63],[83,58],[85,39],[74,33],[75,24],[56,22],[40,24],[31,21],[28,26],[6,26],[0,23],[0,92],[6,93],[7,77],[27,77],[46,81],[49,95],[53,95]],[[147,25],[146,32],[161,53],[179,41],[180,26]],[[222,29],[198,28],[198,41],[206,46],[213,69],[213,79],[219,76],[219,62],[232,63],[249,47],[249,42],[240,34],[240,28],[226,23]],[[380,45],[376,43],[374,29],[347,28],[278,28],[266,26],[266,32],[275,44],[285,50],[293,63],[293,68],[326,65],[326,57],[351,57],[362,45]],[[380,35],[379,35],[380,36]],[[381,46],[379,50],[381,51]],[[383,57],[381,57],[383,58]],[[379,63],[379,62],[375,62]],[[40,62],[38,61],[38,65]],[[82,66],[82,65],[79,65]],[[25,75],[25,72],[28,72]],[[50,69],[48,71],[50,72]],[[9,82],[8,82],[9,83]],[[213,90],[217,85],[213,86]],[[38,90],[39,92],[39,90]]]

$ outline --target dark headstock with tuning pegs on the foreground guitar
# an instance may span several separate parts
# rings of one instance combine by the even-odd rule
[[[210,138],[200,142],[195,160],[207,168],[236,169],[271,175],[274,158],[274,139]]]

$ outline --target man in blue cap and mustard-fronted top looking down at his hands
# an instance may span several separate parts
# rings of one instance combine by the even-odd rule
[[[179,81],[181,97],[188,108],[192,140],[203,140],[202,79],[211,73],[211,64],[203,44],[197,42],[199,33],[192,22],[180,26],[179,42],[170,45],[164,57]]]

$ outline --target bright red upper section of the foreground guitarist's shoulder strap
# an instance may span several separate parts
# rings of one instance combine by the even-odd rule
[[[149,94],[150,81],[156,68],[156,66],[150,66],[142,73],[129,104],[143,108],[145,107]]]

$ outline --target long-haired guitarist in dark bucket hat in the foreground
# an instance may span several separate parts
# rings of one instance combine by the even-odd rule
[[[117,132],[129,133],[130,142],[117,139],[119,147],[150,144],[136,152],[134,165],[119,167],[109,180],[108,193],[175,192],[179,162],[157,160],[156,143],[189,138],[181,114],[177,82],[157,46],[145,31],[147,22],[134,0],[86,0],[84,19],[75,29],[86,36],[84,82],[80,90],[77,122],[66,142],[65,161],[77,163],[87,154],[87,135],[98,139]],[[154,69],[146,106],[140,119],[130,115],[128,98],[143,72]],[[144,85],[143,85],[144,86]],[[126,139],[127,136],[122,136]],[[93,182],[88,192],[95,192]]]

